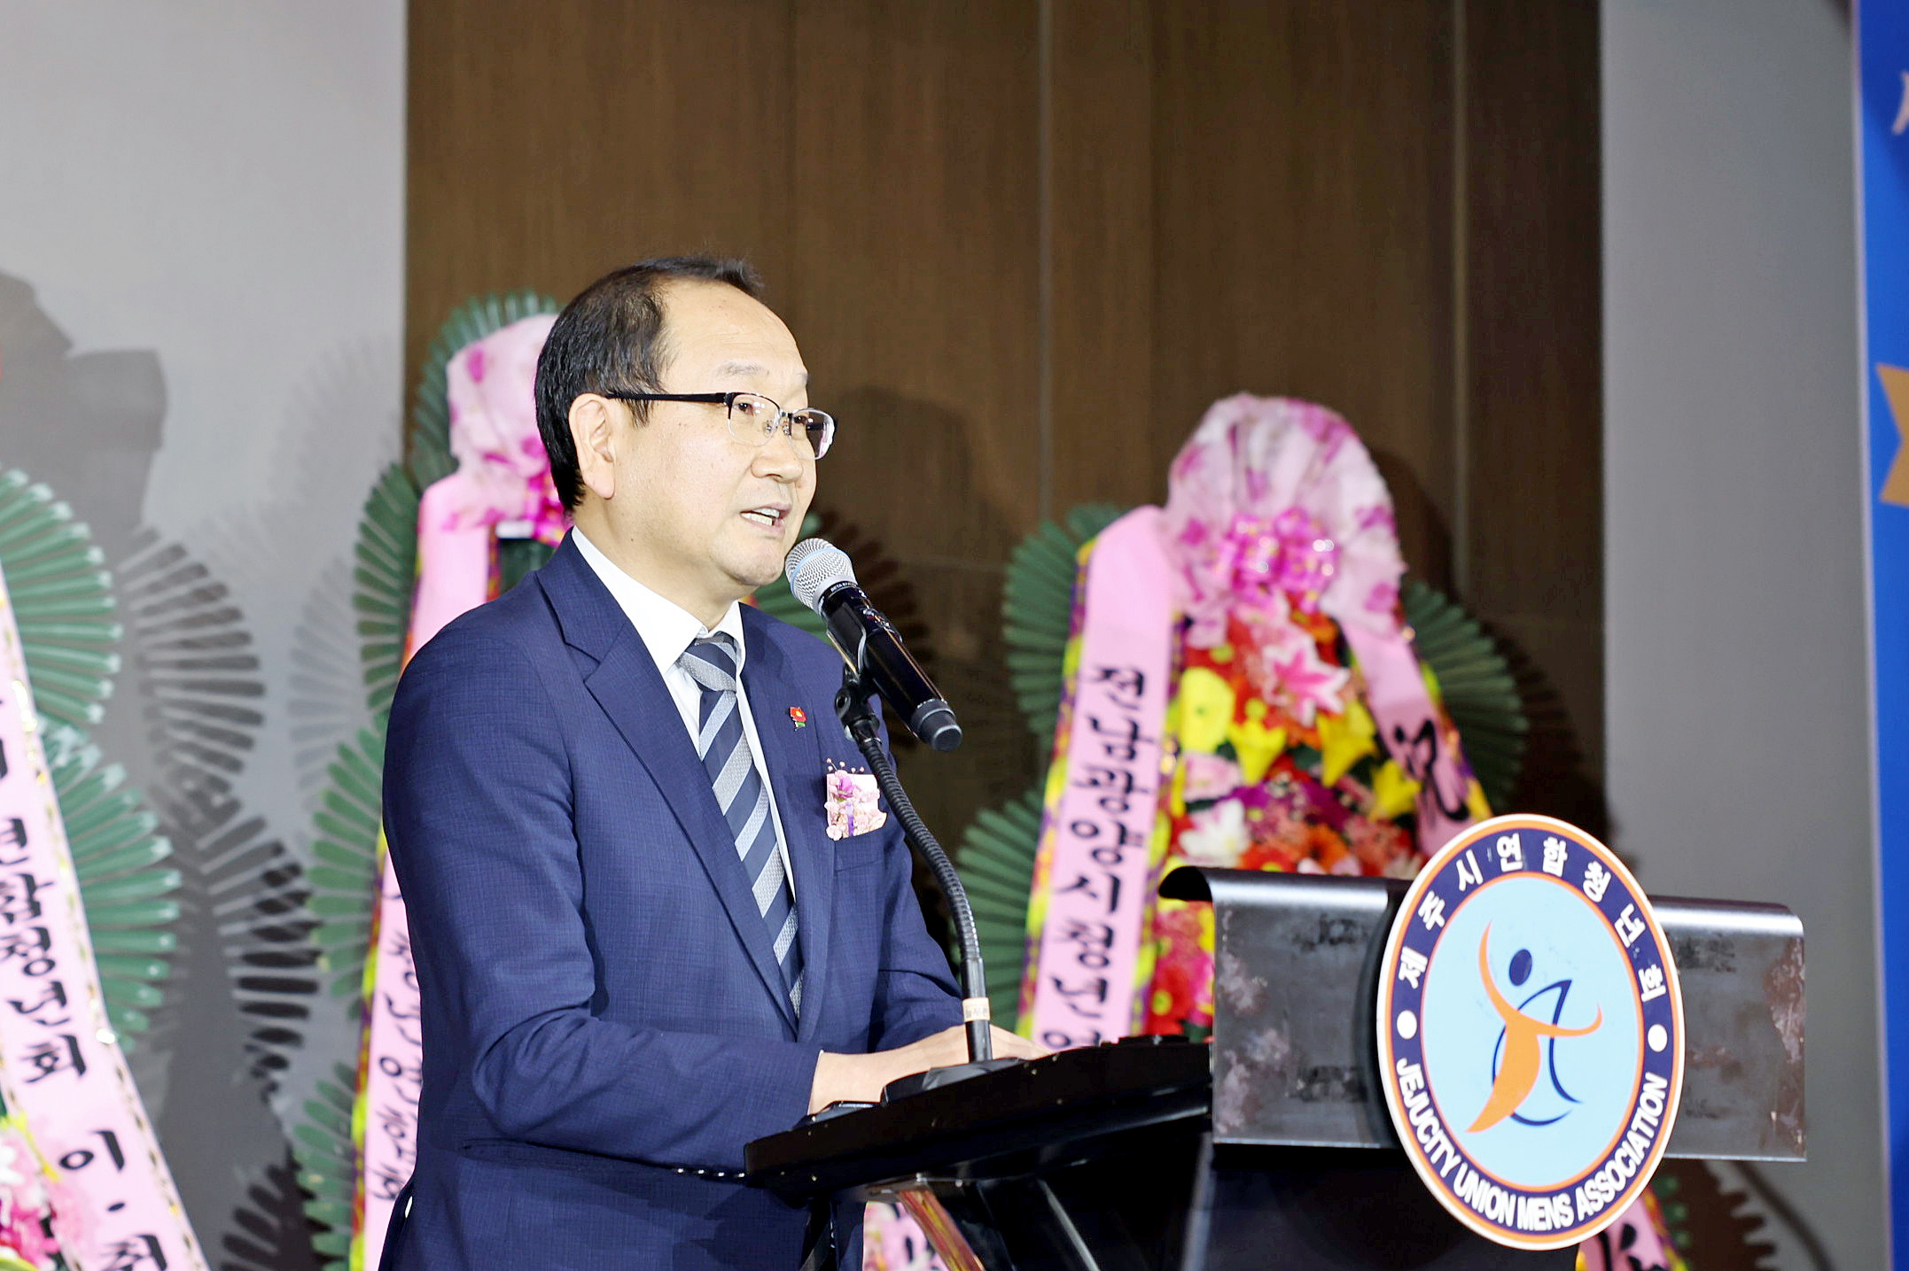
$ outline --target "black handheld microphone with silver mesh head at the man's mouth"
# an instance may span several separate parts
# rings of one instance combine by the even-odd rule
[[[829,643],[907,719],[909,731],[935,750],[958,746],[954,710],[920,662],[909,656],[901,632],[855,584],[848,553],[825,538],[804,538],[788,553],[787,573],[794,597],[821,615]]]

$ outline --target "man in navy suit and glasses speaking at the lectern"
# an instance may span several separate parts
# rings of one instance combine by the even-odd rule
[[[781,574],[834,422],[731,261],[617,271],[557,319],[538,427],[575,531],[449,624],[391,706],[386,828],[424,1000],[403,1271],[794,1271],[834,1231],[743,1145],[964,1059],[834,653],[737,601]],[[998,1053],[1038,1053],[996,1031]],[[389,1269],[388,1269],[389,1271]]]

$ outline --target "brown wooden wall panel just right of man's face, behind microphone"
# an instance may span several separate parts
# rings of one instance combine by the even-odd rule
[[[1006,695],[1002,561],[1037,525],[1037,10],[1021,0],[800,4],[790,324],[842,418],[817,504],[914,588],[966,731],[899,763],[954,840],[1027,784]]]

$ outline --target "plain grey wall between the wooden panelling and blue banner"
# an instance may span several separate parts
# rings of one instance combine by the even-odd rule
[[[1653,891],[1808,929],[1812,1160],[1836,1267],[1884,1265],[1848,15],[1604,2],[1605,708]],[[1810,1265],[1789,1240],[1785,1265]]]

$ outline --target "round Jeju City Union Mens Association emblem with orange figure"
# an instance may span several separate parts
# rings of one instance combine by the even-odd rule
[[[1378,989],[1405,1155],[1472,1231],[1562,1248],[1649,1183],[1684,1090],[1676,966],[1630,870],[1550,817],[1495,817],[1413,880]]]

